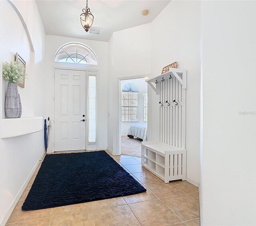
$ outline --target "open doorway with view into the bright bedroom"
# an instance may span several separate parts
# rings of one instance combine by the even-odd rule
[[[141,157],[147,140],[148,90],[145,78],[120,81],[121,154]]]

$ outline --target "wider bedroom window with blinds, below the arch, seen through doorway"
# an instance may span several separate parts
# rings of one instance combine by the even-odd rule
[[[122,92],[122,122],[138,122],[138,92]]]

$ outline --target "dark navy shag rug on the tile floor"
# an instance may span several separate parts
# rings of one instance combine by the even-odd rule
[[[46,155],[22,210],[66,206],[145,191],[105,151]]]

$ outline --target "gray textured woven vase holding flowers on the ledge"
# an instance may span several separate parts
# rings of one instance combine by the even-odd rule
[[[5,97],[5,114],[7,118],[18,118],[20,100],[16,83],[8,83]]]

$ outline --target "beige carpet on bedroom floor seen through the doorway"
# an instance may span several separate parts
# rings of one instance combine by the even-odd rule
[[[121,137],[122,155],[132,155],[141,157],[141,141],[138,139],[131,139],[127,136]]]

